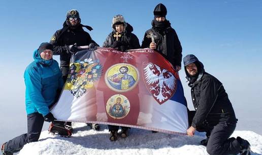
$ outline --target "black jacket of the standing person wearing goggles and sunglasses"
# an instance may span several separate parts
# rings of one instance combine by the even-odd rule
[[[77,43],[77,46],[84,46],[89,45],[91,42],[97,45],[82,26],[80,24],[75,28],[71,28],[67,22],[64,22],[63,28],[57,30],[52,36],[50,43],[54,46],[54,55],[60,55],[60,67],[69,67],[71,59],[69,45]]]

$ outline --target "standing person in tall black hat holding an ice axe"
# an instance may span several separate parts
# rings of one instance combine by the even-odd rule
[[[176,31],[166,19],[167,8],[163,4],[158,4],[153,13],[152,28],[146,31],[141,47],[155,49],[179,71],[182,47]]]

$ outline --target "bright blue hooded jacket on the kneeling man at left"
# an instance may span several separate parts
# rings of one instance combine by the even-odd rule
[[[62,90],[62,74],[55,60],[41,59],[38,50],[34,51],[35,61],[24,72],[26,113],[49,113],[50,106]]]

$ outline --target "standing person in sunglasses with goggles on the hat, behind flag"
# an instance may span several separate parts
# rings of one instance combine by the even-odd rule
[[[92,49],[99,46],[92,40],[89,33],[84,31],[83,27],[87,28],[89,31],[92,30],[90,26],[81,24],[81,19],[77,10],[70,10],[67,12],[67,18],[63,23],[63,28],[57,30],[50,40],[50,43],[54,46],[54,55],[60,55],[60,69],[64,83],[67,81],[71,56],[77,52],[78,46],[88,45],[89,48]],[[88,125],[96,127],[95,129],[99,130],[98,124]],[[71,122],[64,123],[64,127],[73,131]]]

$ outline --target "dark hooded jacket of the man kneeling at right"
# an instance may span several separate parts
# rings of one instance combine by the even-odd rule
[[[219,122],[237,123],[234,109],[222,83],[214,76],[204,70],[204,65],[193,55],[184,58],[184,66],[195,63],[199,66],[199,75],[193,83],[188,83],[191,87],[191,97],[195,109],[195,115],[191,126],[196,128],[209,124],[211,126]],[[186,79],[191,77],[185,67]]]

